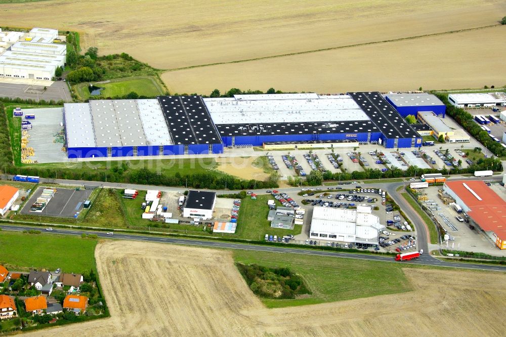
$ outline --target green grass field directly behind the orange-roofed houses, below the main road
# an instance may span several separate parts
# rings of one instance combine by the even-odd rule
[[[81,273],[95,269],[97,240],[70,235],[0,231],[0,264],[9,270],[31,268]]]

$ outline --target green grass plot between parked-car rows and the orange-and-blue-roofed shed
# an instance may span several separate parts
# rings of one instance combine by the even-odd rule
[[[242,199],[236,232],[227,236],[240,239],[263,240],[265,234],[277,236],[300,234],[302,225],[295,225],[293,230],[271,228],[270,221],[267,221],[267,215],[269,214],[267,200],[269,199],[276,200],[266,194],[258,195],[257,200],[252,200],[249,197]],[[281,203],[276,200],[276,205],[281,206]]]

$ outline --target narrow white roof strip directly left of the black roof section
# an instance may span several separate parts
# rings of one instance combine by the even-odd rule
[[[136,100],[147,145],[172,145],[171,134],[157,99]]]

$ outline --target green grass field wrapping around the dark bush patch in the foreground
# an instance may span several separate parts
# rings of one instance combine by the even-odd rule
[[[412,290],[400,264],[302,254],[234,250],[234,260],[269,268],[288,267],[313,292],[296,300],[262,299],[268,308],[344,301]]]

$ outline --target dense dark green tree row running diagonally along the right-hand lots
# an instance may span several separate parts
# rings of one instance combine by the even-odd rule
[[[436,96],[446,104],[446,114],[455,119],[463,129],[482,143],[496,156],[502,157],[506,155],[506,148],[500,143],[494,142],[488,133],[480,128],[480,125],[474,121],[473,115],[462,108],[457,108],[448,102],[446,95],[436,94]]]

